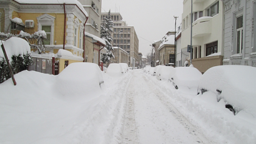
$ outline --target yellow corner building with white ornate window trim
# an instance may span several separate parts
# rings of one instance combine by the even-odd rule
[[[12,34],[45,31],[45,51],[57,55],[59,72],[68,64],[84,62],[84,25],[88,14],[77,0],[64,2],[0,0],[0,31]],[[58,52],[59,49],[69,52]]]

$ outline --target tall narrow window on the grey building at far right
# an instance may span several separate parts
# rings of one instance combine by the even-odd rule
[[[237,54],[243,49],[243,16],[237,17]]]

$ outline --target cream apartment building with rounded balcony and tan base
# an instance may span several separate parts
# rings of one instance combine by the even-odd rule
[[[202,73],[210,67],[223,64],[224,9],[224,3],[219,0],[183,2],[180,47],[187,49],[190,45],[192,19],[192,64]]]

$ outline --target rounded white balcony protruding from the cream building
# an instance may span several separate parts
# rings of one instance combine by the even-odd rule
[[[212,17],[200,17],[193,23],[193,37],[203,37],[212,33]]]

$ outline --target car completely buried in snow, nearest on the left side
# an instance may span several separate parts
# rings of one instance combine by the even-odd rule
[[[76,62],[56,76],[56,89],[62,95],[84,95],[101,92],[104,80],[97,64]]]

